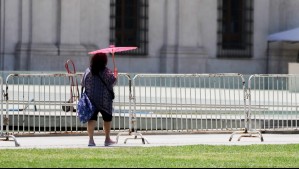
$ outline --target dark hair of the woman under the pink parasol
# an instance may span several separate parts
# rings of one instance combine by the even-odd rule
[[[92,75],[98,75],[103,72],[107,66],[108,57],[105,53],[98,53],[91,57],[90,69]]]

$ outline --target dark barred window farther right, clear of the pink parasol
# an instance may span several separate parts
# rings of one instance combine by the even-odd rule
[[[252,57],[253,0],[218,0],[218,57]]]

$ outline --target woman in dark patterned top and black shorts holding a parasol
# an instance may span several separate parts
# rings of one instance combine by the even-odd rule
[[[96,111],[87,123],[89,136],[88,146],[96,146],[94,141],[94,130],[98,119],[98,113],[102,114],[105,133],[105,146],[116,144],[110,138],[112,122],[112,104],[114,100],[113,86],[118,78],[118,70],[114,67],[114,72],[107,68],[108,57],[104,53],[98,53],[91,57],[90,67],[86,69],[82,79],[82,86]]]

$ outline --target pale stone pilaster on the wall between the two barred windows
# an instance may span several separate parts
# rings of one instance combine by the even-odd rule
[[[161,49],[167,73],[205,72],[207,54],[202,47],[198,0],[169,0],[164,27],[167,40]]]

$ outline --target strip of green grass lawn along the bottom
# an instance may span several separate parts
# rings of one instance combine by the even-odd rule
[[[1,168],[298,168],[299,145],[0,150]]]

